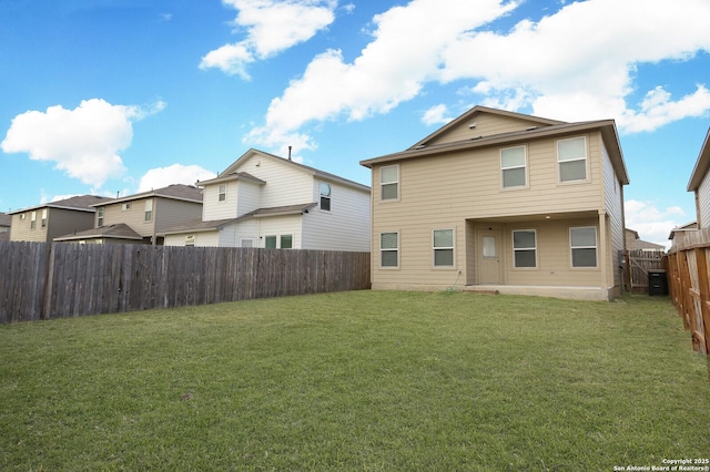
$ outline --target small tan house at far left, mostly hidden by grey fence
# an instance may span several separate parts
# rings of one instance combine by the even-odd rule
[[[81,195],[10,212],[10,240],[51,243],[55,237],[93,227],[92,205],[111,202],[97,195]]]

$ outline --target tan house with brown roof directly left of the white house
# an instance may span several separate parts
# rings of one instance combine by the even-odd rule
[[[202,189],[170,185],[98,203],[93,207],[95,222],[91,229],[64,234],[54,240],[162,245],[163,238],[158,233],[202,215]]]

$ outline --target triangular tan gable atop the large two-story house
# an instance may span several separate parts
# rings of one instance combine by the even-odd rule
[[[562,121],[548,120],[520,113],[474,106],[463,115],[452,120],[424,140],[415,143],[410,150],[459,141],[495,136],[542,126],[565,124]]]

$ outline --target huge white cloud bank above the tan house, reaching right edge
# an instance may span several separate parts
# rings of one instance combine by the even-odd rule
[[[248,137],[282,145],[283,136],[298,133],[314,146],[298,132],[308,123],[387,113],[429,82],[473,81],[478,103],[569,121],[611,117],[628,132],[710,111],[702,84],[676,101],[653,84],[642,103],[629,103],[639,64],[710,51],[707,0],[589,0],[509,31],[487,30],[520,3],[412,0],[377,14],[359,57],[346,63],[338,50],[316,55]]]

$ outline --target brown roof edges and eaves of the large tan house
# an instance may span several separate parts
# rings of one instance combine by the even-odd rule
[[[474,113],[495,113],[498,115],[515,115],[516,117],[524,117],[528,121],[536,121],[541,125],[532,126],[524,131],[493,134],[488,136],[478,136],[478,137],[467,138],[462,141],[428,145],[430,141],[433,141],[436,136],[444,133],[445,130],[448,130],[452,126],[460,124],[466,120],[470,120]],[[565,123],[565,122],[559,122],[554,120],[539,119],[535,116],[530,117],[528,115],[523,115],[519,113],[511,113],[511,112],[504,112],[500,110],[487,109],[484,106],[476,106],[469,110],[468,112],[464,113],[462,116],[454,120],[454,122],[437,130],[435,133],[417,142],[415,145],[413,145],[412,147],[405,151],[361,161],[361,165],[372,168],[373,165],[375,164],[384,164],[384,163],[396,162],[396,161],[406,161],[410,158],[432,157],[438,154],[453,152],[453,151],[483,148],[487,146],[497,146],[500,144],[511,144],[516,142],[528,141],[531,138],[562,136],[562,135],[568,135],[572,133],[580,133],[580,132],[592,131],[592,130],[598,130],[601,132],[602,138],[607,147],[607,152],[609,153],[609,157],[611,160],[611,165],[613,166],[615,172],[617,173],[617,176],[619,177],[619,181],[621,182],[621,184],[623,185],[629,184],[629,174],[627,172],[626,164],[623,162],[621,144],[619,143],[619,134],[617,132],[616,123],[613,120]]]

